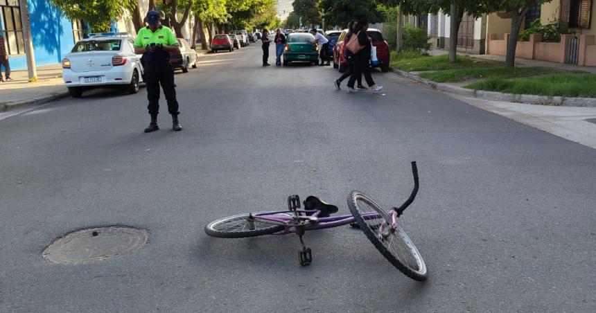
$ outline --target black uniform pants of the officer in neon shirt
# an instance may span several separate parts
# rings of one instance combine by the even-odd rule
[[[149,100],[149,114],[159,113],[159,85],[164,89],[164,95],[168,101],[168,112],[179,114],[178,101],[176,100],[176,89],[174,87],[174,69],[169,62],[152,64],[145,63],[145,82],[147,84],[147,100]]]

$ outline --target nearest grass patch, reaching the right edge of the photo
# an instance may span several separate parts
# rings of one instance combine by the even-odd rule
[[[596,74],[554,73],[513,80],[489,78],[468,84],[466,88],[538,96],[596,98]]]

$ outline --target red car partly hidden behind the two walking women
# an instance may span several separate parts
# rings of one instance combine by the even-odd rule
[[[347,60],[344,57],[346,48],[344,39],[346,38],[348,33],[347,29],[342,31],[342,35],[338,38],[338,42],[333,46],[333,67],[335,69],[340,69],[340,73],[344,73],[348,69]],[[376,62],[371,62],[372,67],[380,67],[380,70],[383,72],[389,71],[389,45],[383,39],[383,34],[380,33],[380,30],[369,28],[367,30],[367,35],[372,39],[372,45],[376,46]]]

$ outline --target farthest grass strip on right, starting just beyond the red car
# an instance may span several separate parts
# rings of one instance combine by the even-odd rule
[[[458,55],[457,62],[449,62],[448,55],[421,55],[416,52],[391,53],[391,66],[402,71],[441,71],[446,69],[470,69],[476,67],[498,66],[502,63],[480,60],[468,55]]]

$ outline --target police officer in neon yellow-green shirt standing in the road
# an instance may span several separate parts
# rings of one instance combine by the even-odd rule
[[[173,31],[161,25],[158,11],[147,12],[147,24],[137,34],[134,42],[134,53],[143,54],[143,67],[145,69],[145,82],[147,84],[147,99],[149,100],[149,114],[151,123],[145,132],[155,132],[157,114],[159,113],[159,84],[164,89],[168,101],[168,112],[172,114],[172,129],[182,130],[178,122],[178,102],[174,85],[174,70],[170,65],[170,52],[180,53],[178,42]]]

